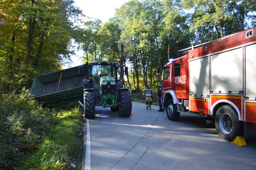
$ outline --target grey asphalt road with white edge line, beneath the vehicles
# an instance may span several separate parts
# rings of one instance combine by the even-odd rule
[[[96,118],[85,119],[82,169],[256,169],[255,138],[240,147],[222,140],[205,117],[181,113],[170,121],[158,109],[133,102],[133,116],[120,118],[96,106]]]

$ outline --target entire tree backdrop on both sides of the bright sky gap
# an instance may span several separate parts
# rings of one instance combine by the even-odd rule
[[[81,22],[86,16],[72,0],[2,0],[0,89],[30,88],[34,76],[62,69],[72,42],[84,63],[120,58],[130,68],[127,77],[119,73],[125,85],[154,87],[156,67],[176,51],[255,26],[255,8],[248,0],[130,0],[102,23]]]

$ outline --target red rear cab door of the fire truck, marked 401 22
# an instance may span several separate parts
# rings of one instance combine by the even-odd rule
[[[186,93],[186,62],[175,61],[172,64],[172,90],[178,99],[185,98]]]

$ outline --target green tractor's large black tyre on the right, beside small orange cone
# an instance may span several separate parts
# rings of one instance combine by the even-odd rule
[[[118,106],[120,117],[129,117],[132,113],[132,96],[129,91],[119,92],[121,105]]]

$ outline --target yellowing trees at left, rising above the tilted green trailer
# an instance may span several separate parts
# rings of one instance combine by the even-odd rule
[[[0,91],[29,88],[35,75],[69,62],[81,10],[68,0],[0,1]],[[20,80],[20,81],[19,81]]]

